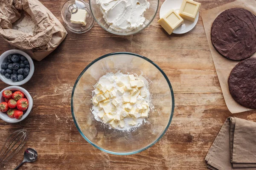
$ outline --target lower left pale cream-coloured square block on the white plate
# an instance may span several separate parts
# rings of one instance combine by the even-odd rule
[[[157,21],[157,23],[159,23],[168,34],[172,34],[172,32],[181,26],[183,22],[184,20],[174,9],[171,9]]]

